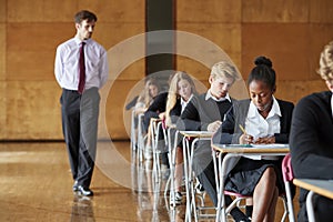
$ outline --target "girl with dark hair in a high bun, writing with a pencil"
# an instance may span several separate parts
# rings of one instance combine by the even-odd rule
[[[248,88],[250,100],[233,103],[213,138],[222,144],[287,143],[293,103],[275,99],[275,71],[265,57],[255,59]],[[245,133],[239,125],[243,125]],[[279,193],[284,189],[282,158],[242,157],[226,174],[225,190],[253,196],[252,221],[274,221]]]

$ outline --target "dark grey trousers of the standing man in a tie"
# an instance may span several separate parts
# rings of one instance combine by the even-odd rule
[[[62,90],[62,130],[73,180],[89,188],[94,168],[100,94],[98,88],[79,94]]]

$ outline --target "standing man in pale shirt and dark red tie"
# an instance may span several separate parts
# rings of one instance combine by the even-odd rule
[[[107,82],[109,67],[105,49],[91,39],[97,16],[75,14],[77,34],[57,49],[54,73],[62,88],[60,98],[62,130],[67,144],[73,191],[93,195],[90,190],[97,150],[99,89]]]

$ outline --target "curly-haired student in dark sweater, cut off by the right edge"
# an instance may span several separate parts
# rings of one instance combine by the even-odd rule
[[[293,113],[290,149],[295,178],[333,180],[333,41],[325,46],[317,73],[329,91],[316,92],[299,101]],[[300,191],[299,221],[307,221],[307,191]],[[333,200],[316,195],[316,221],[332,221]]]

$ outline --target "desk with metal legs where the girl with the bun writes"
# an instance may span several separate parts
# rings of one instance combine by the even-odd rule
[[[224,176],[226,175],[226,168],[230,167],[231,159],[240,157],[255,157],[255,155],[285,155],[289,153],[287,144],[212,144],[212,152],[214,157],[218,157],[218,163],[214,160],[215,167],[215,181],[218,192],[218,209],[216,209],[216,222],[226,222],[226,212],[231,209],[226,209],[224,201]],[[223,157],[222,161],[222,154]],[[231,163],[232,164],[232,163]],[[219,170],[218,170],[219,169]],[[219,174],[216,173],[219,172]]]

